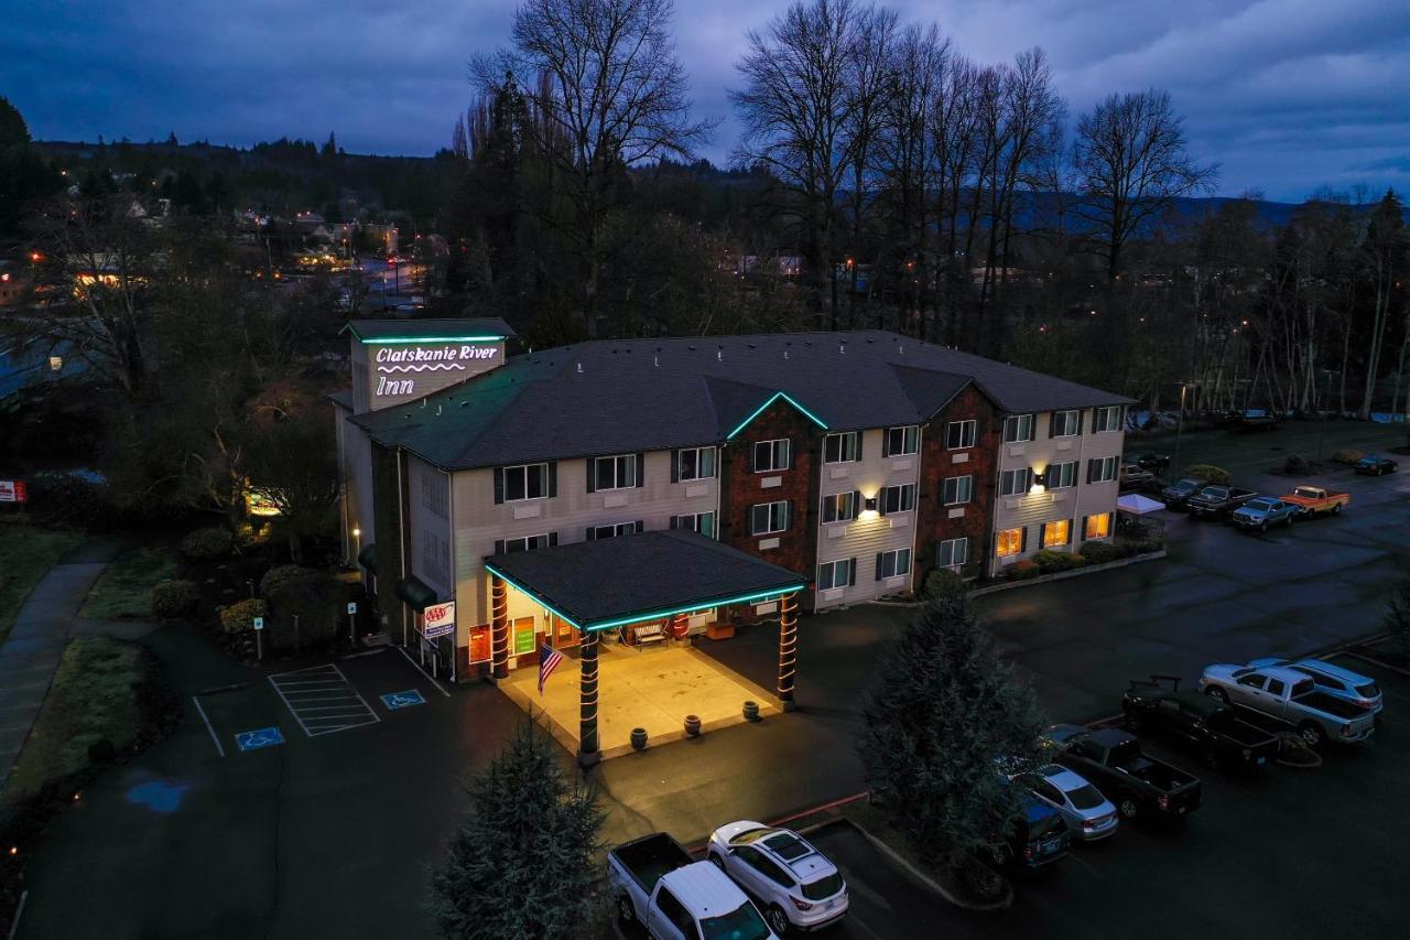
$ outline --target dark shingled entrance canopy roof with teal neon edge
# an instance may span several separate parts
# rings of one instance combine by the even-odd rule
[[[485,569],[589,632],[759,604],[802,590],[807,582],[695,532],[670,529],[492,555]]]

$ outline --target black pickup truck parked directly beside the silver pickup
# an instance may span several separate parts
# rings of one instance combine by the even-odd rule
[[[1238,717],[1234,710],[1197,692],[1162,689],[1166,677],[1132,682],[1121,701],[1127,727],[1149,728],[1190,745],[1204,761],[1218,769],[1237,766],[1258,769],[1277,757],[1277,738]]]

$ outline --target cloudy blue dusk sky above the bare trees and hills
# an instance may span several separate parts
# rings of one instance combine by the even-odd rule
[[[248,145],[281,135],[430,154],[468,102],[465,62],[513,0],[24,0],[6,4],[0,95],[48,140]],[[785,0],[677,0],[695,107],[726,119],[747,28]],[[1073,113],[1172,92],[1220,192],[1299,200],[1321,185],[1410,189],[1407,0],[894,0],[979,61],[1042,45]]]

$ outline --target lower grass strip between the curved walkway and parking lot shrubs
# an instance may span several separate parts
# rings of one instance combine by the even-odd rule
[[[20,751],[6,799],[28,796],[48,781],[82,771],[89,764],[89,745],[102,738],[117,752],[130,749],[142,720],[142,648],[137,644],[106,637],[70,642]]]

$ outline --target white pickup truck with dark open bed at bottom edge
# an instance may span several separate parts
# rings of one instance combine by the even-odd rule
[[[651,940],[777,940],[739,885],[708,861],[691,861],[666,833],[608,852],[618,916],[640,923]]]

